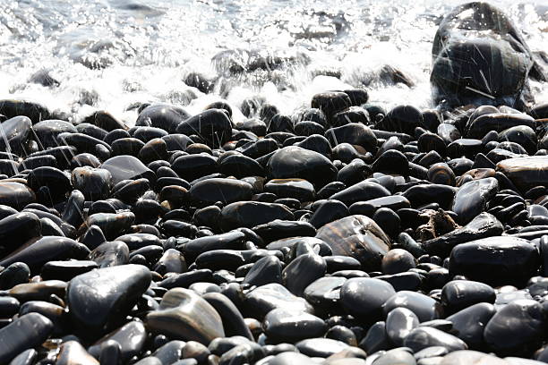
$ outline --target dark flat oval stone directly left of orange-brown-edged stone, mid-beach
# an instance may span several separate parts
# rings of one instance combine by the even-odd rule
[[[253,187],[240,180],[213,178],[195,183],[189,192],[194,202],[208,206],[217,201],[229,204],[249,200],[253,195]]]

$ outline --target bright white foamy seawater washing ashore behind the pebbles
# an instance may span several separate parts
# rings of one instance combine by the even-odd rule
[[[372,103],[432,107],[432,39],[454,0],[0,0],[0,98],[30,98],[78,122],[104,109],[130,125],[133,106],[168,102],[196,113],[225,98],[265,98],[287,115],[314,93],[365,87]],[[534,52],[548,53],[548,0],[495,1]],[[304,63],[230,75],[219,53]],[[236,58],[237,58],[236,57]],[[234,58],[234,57],[233,57]],[[219,62],[219,59],[221,62]],[[216,61],[217,60],[217,61]],[[379,80],[389,64],[413,87]],[[55,88],[30,83],[47,70]],[[184,78],[223,77],[210,94]],[[334,77],[336,76],[336,77]],[[538,102],[548,86],[532,83]],[[235,119],[243,115],[235,113]]]

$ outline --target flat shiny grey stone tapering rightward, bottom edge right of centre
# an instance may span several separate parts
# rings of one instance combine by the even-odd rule
[[[467,350],[468,346],[458,337],[432,327],[416,327],[405,338],[404,346],[413,352],[419,352],[427,347],[442,346],[450,352]]]

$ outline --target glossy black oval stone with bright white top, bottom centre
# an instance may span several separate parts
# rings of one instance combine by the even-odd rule
[[[262,328],[269,339],[297,342],[305,338],[320,337],[327,329],[323,319],[310,313],[295,310],[270,310],[262,321]]]

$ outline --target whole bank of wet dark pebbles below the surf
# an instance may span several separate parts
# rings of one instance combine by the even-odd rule
[[[548,362],[548,105],[0,101],[0,363]]]

